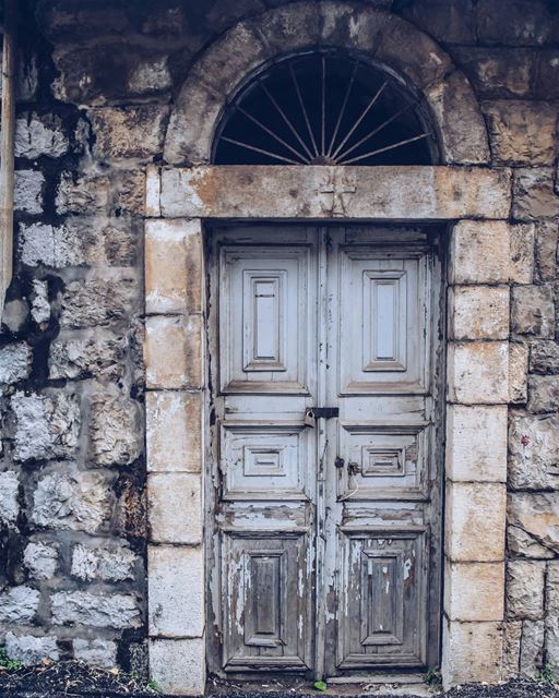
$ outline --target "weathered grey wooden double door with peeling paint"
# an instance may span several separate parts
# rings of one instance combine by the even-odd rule
[[[436,231],[211,238],[210,671],[436,665]]]

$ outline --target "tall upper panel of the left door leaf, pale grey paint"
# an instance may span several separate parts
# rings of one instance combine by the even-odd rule
[[[223,393],[308,394],[316,298],[310,265],[308,245],[222,248]]]

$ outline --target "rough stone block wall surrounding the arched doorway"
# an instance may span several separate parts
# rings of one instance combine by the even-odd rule
[[[559,675],[559,9],[548,0],[369,0],[472,81],[512,222],[528,348],[510,407],[504,675]],[[11,657],[145,667],[143,198],[199,51],[282,0],[27,0],[15,277],[0,338],[0,643]],[[156,5],[156,7],[154,7]]]

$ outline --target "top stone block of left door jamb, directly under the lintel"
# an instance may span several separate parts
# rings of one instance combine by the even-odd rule
[[[148,313],[201,312],[203,269],[200,221],[146,222],[145,302]]]

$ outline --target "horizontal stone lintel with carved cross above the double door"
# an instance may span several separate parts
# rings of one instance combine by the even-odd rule
[[[159,193],[148,210],[164,218],[506,219],[511,205],[506,168],[235,165],[147,174]]]

